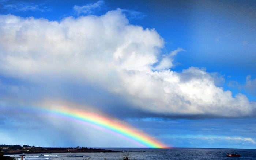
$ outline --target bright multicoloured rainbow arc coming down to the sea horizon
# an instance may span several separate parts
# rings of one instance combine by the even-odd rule
[[[53,114],[53,116],[59,116],[69,118],[74,121],[84,122],[86,125],[93,126],[94,128],[103,128],[107,132],[112,134],[118,134],[133,143],[144,148],[169,148],[167,145],[161,143],[148,134],[133,128],[132,126],[101,114],[85,111],[82,109],[74,109],[73,107],[67,107],[63,105],[52,105],[52,107],[41,108],[46,114]]]

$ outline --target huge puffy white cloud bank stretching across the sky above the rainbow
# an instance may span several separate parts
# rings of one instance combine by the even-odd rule
[[[185,50],[159,58],[161,36],[129,24],[121,9],[60,22],[0,15],[0,36],[0,74],[5,77],[48,87],[52,81],[97,86],[123,97],[131,108],[158,116],[255,113],[255,102],[217,87],[206,69],[173,71],[173,56]]]

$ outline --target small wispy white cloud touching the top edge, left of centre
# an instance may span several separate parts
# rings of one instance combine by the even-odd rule
[[[94,13],[96,9],[100,9],[104,5],[104,3],[105,2],[103,0],[100,0],[100,1],[97,1],[96,3],[89,3],[83,6],[75,5],[73,9],[78,15],[81,15],[81,14],[88,15],[88,14]]]

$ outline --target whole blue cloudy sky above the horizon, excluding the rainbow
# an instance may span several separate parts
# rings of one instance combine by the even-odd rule
[[[64,106],[168,147],[256,149],[255,9],[250,0],[0,0],[0,143],[142,147]]]

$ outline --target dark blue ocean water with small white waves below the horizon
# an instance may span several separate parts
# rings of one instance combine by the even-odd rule
[[[106,148],[102,148],[106,149]],[[38,153],[26,154],[23,160],[122,160],[129,155],[130,160],[256,160],[256,149],[216,149],[216,148],[107,148],[114,153]],[[227,153],[237,153],[240,157],[226,157]],[[8,155],[21,160],[20,155]]]

